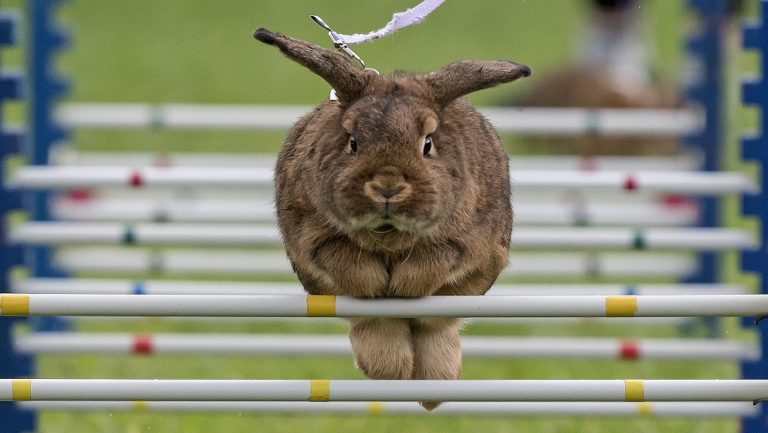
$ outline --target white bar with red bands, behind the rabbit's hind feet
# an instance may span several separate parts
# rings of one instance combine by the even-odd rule
[[[461,339],[467,358],[675,359],[755,361],[754,344],[728,340],[475,337]],[[121,355],[352,355],[346,335],[126,334],[43,332],[17,334],[14,350],[40,354]]]

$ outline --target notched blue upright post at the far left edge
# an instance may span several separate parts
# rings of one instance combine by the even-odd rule
[[[19,20],[16,15],[0,11],[0,48],[15,45],[18,40]],[[3,102],[22,97],[21,74],[0,74],[0,182],[5,179],[5,161],[9,155],[20,151],[21,136],[11,132],[5,124],[2,112]],[[0,183],[0,293],[8,291],[11,269],[21,264],[21,250],[8,243],[7,218],[10,211],[21,207],[18,193],[5,189]],[[19,355],[13,350],[13,328],[15,320],[0,318],[0,377],[28,377],[34,371],[32,359]],[[35,415],[20,411],[13,403],[0,404],[0,429],[8,433],[23,433],[35,430]]]

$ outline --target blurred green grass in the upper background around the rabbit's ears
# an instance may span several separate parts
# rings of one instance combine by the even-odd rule
[[[310,14],[349,33],[366,32],[414,3],[369,1],[342,7],[324,0],[75,1],[63,13],[76,30],[74,49],[63,56],[61,69],[76,77],[72,97],[79,101],[316,104],[327,96],[325,82],[255,41],[253,30],[266,27],[328,46]],[[454,2],[435,11],[424,25],[355,50],[382,73],[430,71],[460,59],[510,59],[530,65],[534,76],[544,76],[573,57],[587,19],[585,3]],[[652,1],[647,6],[644,13],[652,17],[649,34],[658,54],[655,71],[676,80],[685,28],[682,4]],[[490,104],[531,82],[521,80],[470,99]],[[83,149],[274,151],[281,139],[281,134],[237,131],[90,131],[79,133],[77,143]]]

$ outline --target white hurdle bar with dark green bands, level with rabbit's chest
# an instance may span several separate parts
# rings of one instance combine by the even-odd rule
[[[280,245],[274,225],[182,223],[30,222],[11,229],[9,240],[28,245]],[[521,227],[512,232],[516,248],[753,249],[754,236],[721,228]]]

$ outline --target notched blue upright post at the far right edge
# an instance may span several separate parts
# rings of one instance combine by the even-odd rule
[[[760,129],[758,133],[742,139],[742,158],[755,161],[762,167],[760,195],[745,196],[742,199],[742,209],[745,215],[756,217],[760,224],[760,239],[762,248],[757,251],[747,251],[741,254],[741,266],[747,272],[758,275],[761,293],[768,294],[768,81],[765,79],[768,71],[768,0],[760,1],[760,22],[744,27],[744,48],[755,50],[760,54],[760,77],[747,81],[742,86],[744,104],[754,106],[760,111]],[[751,326],[751,325],[750,325]],[[763,324],[762,326],[765,326]],[[746,362],[742,366],[744,379],[768,378],[768,332],[758,333],[762,349],[759,361]],[[765,433],[768,431],[768,403],[761,403],[758,416],[747,418],[742,423],[743,433]]]

